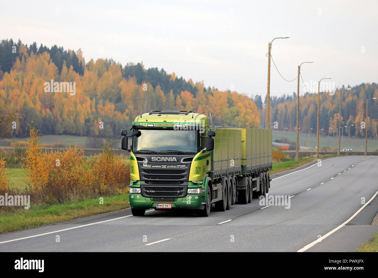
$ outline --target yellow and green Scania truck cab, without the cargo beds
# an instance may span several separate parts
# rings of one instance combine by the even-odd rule
[[[130,152],[133,215],[183,208],[208,216],[215,135],[209,119],[192,111],[152,110],[137,116],[129,133],[122,130],[122,149]]]

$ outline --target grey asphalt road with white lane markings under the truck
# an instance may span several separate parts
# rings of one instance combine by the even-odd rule
[[[378,157],[366,158],[327,158],[272,175],[269,196],[293,196],[290,208],[253,199],[210,217],[155,210],[136,217],[124,210],[3,234],[0,251],[355,251],[378,231],[370,225],[378,197],[361,203],[378,191]]]

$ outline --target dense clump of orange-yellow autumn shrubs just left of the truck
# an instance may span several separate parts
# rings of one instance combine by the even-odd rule
[[[129,165],[110,143],[104,144],[101,154],[87,158],[76,146],[43,151],[34,127],[28,141],[23,162],[33,202],[51,204],[126,193]]]

